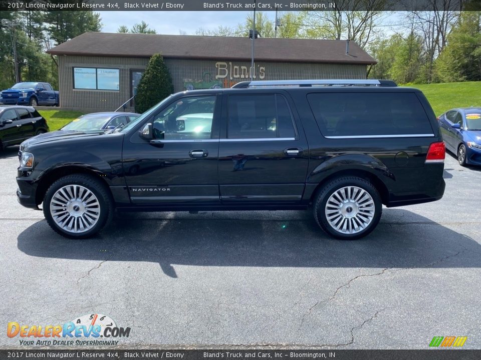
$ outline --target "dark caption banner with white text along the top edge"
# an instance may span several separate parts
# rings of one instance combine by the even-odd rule
[[[447,11],[481,10],[481,0],[0,0],[0,10],[96,11]]]

